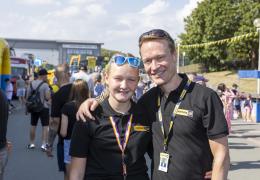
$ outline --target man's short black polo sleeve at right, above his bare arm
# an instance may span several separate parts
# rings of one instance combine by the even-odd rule
[[[224,115],[223,104],[216,92],[211,91],[206,97],[203,125],[207,128],[209,139],[228,135],[228,125]]]

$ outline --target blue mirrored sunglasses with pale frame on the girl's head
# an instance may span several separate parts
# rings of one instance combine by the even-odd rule
[[[125,57],[122,55],[115,55],[112,57],[111,61],[119,66],[125,64],[126,62],[134,68],[138,68],[140,66],[140,59],[136,57]]]

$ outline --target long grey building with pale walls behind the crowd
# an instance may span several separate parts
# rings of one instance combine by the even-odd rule
[[[9,46],[15,49],[16,56],[33,54],[35,58],[57,65],[70,63],[72,57],[80,56],[85,61],[89,56],[100,59],[103,43],[85,41],[41,40],[5,38]]]

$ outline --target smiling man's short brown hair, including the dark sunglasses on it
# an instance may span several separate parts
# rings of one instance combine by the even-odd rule
[[[147,31],[145,33],[143,33],[140,37],[139,37],[139,49],[141,48],[143,42],[145,41],[149,41],[149,40],[155,40],[155,39],[165,39],[168,44],[169,44],[169,48],[172,52],[175,51],[175,42],[172,39],[172,37],[170,36],[170,34],[162,29],[152,29],[150,31]]]

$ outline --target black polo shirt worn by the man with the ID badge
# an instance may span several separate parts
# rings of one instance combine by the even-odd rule
[[[188,110],[188,115],[177,114],[169,135],[168,153],[170,154],[168,173],[158,170],[160,153],[163,152],[163,134],[158,121],[158,97],[161,98],[162,119],[168,134],[171,115],[188,78],[183,78],[177,89],[168,98],[163,97],[159,87],[152,88],[139,100],[149,112],[153,136],[153,179],[154,180],[201,180],[205,172],[212,169],[213,156],[209,139],[228,135],[223,105],[215,91],[191,83],[179,109]]]

